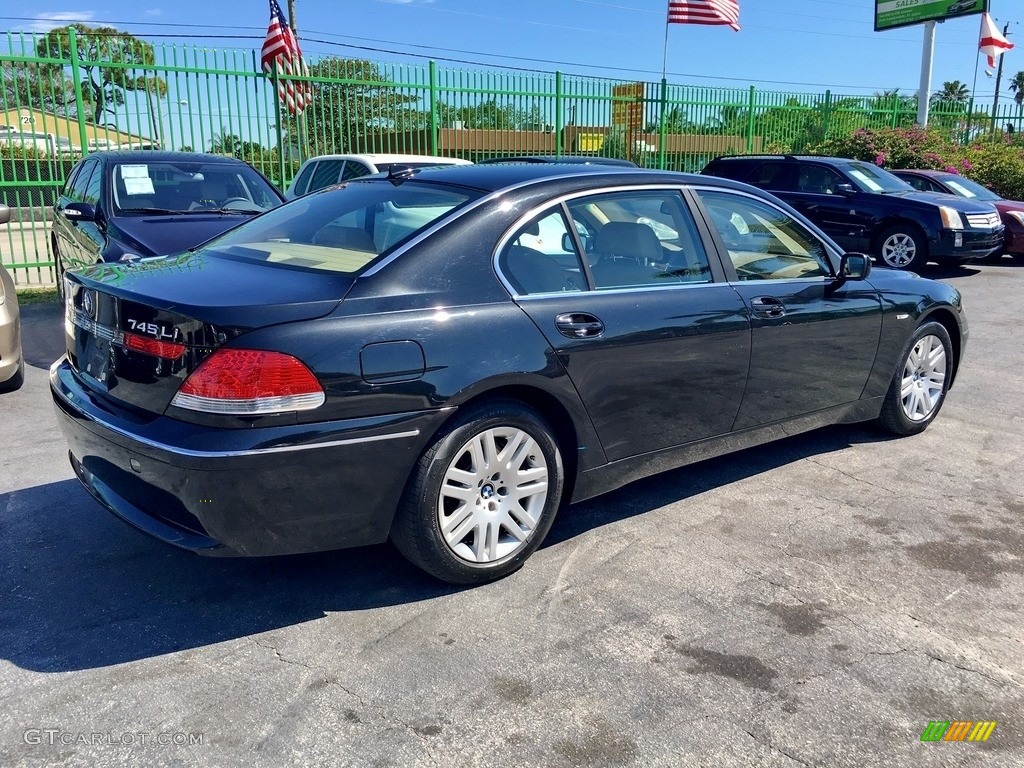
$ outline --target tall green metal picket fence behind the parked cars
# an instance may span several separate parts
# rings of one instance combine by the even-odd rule
[[[403,152],[480,160],[601,155],[697,171],[713,157],[797,153],[856,128],[910,126],[914,99],[710,88],[530,72],[324,57],[299,118],[276,97],[297,78],[260,71],[255,50],[151,44],[72,29],[0,38],[0,260],[19,285],[53,282],[48,217],[70,168],[104,148],[229,154],[282,189],[303,158]],[[1017,123],[1010,103],[979,124]],[[965,135],[973,109],[933,112]]]

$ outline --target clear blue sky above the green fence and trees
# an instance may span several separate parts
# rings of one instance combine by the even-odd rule
[[[423,61],[479,69],[526,70],[627,80],[660,77],[666,0],[295,0],[303,51],[376,60]],[[287,8],[286,0],[281,5]],[[24,6],[22,6],[24,7]],[[45,30],[69,19],[109,24],[140,37],[258,47],[268,4],[260,0],[48,0],[0,29]],[[921,72],[923,28],[872,30],[873,0],[740,0],[742,31],[673,25],[669,80],[694,85],[757,85],[769,90],[870,94],[913,92]],[[246,9],[246,10],[244,10]],[[1024,70],[1024,2],[991,0],[999,27],[1010,23],[1004,89]],[[1014,15],[1016,14],[1016,15]],[[933,88],[944,80],[974,83],[979,16],[938,26]],[[178,26],[183,25],[183,26]],[[172,35],[183,38],[165,37]],[[206,36],[225,37],[206,37]],[[239,36],[231,39],[229,36]],[[445,59],[452,59],[451,61]],[[991,98],[994,80],[978,68],[976,95]],[[1004,90],[1004,95],[1009,92]]]

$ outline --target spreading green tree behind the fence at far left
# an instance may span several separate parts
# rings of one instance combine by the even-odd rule
[[[125,91],[147,91],[163,97],[167,83],[145,70],[155,62],[153,45],[113,27],[88,27],[73,24],[50,30],[36,46],[36,53],[48,58],[71,57],[71,31],[78,38],[78,56],[82,70],[82,98],[91,111],[90,122],[103,122],[103,113],[112,116],[125,102]],[[67,79],[57,68],[61,82]],[[141,74],[140,74],[141,72]],[[66,105],[66,112],[70,104]]]

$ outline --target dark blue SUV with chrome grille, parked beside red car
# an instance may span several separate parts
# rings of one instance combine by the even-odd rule
[[[1002,247],[989,203],[922,193],[859,160],[758,155],[716,158],[701,171],[744,181],[784,200],[848,251],[897,269],[926,261],[980,259]]]

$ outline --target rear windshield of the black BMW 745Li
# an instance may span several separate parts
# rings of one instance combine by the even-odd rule
[[[479,196],[416,181],[352,181],[246,222],[201,252],[353,274]]]

